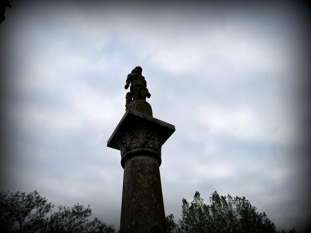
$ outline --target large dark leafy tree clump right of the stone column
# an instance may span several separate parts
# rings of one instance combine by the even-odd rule
[[[265,212],[258,213],[245,197],[220,196],[216,191],[206,205],[198,191],[190,203],[182,199],[180,231],[186,233],[276,233]]]

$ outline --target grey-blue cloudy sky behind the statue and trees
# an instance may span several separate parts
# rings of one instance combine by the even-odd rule
[[[195,191],[245,196],[277,229],[311,208],[303,6],[14,1],[0,24],[1,190],[38,190],[119,229],[123,169],[107,140],[140,65],[162,147],[165,214]],[[309,29],[308,29],[309,30]]]

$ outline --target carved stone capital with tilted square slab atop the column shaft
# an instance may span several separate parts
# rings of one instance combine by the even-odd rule
[[[107,146],[120,150],[124,168],[128,158],[135,155],[155,157],[161,164],[161,147],[175,131],[175,126],[128,109],[110,136]]]

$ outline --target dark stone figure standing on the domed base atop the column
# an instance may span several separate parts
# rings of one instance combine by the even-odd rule
[[[151,94],[147,88],[147,82],[145,77],[142,75],[142,67],[136,66],[126,79],[125,89],[128,89],[130,84],[130,92],[126,94],[126,104],[130,104],[135,100],[144,100],[146,97],[150,98]]]

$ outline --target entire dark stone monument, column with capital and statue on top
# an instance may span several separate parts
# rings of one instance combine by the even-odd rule
[[[137,66],[127,76],[126,113],[107,146],[120,150],[124,169],[120,233],[165,233],[159,166],[175,126],[153,117],[142,70]]]

